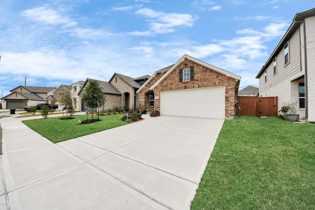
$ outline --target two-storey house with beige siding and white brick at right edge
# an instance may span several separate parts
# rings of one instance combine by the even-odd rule
[[[315,121],[315,8],[297,13],[291,26],[262,66],[259,96],[297,102],[300,118]]]

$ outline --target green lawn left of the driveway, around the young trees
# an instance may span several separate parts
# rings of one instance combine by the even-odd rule
[[[99,116],[101,121],[89,124],[79,124],[79,119],[81,121],[87,119],[86,115],[74,115],[72,117],[75,119],[72,120],[48,117],[47,119],[23,120],[22,122],[51,142],[58,143],[128,124],[121,120],[124,116],[125,114]],[[94,116],[94,118],[96,119],[97,116]],[[91,116],[89,116],[89,119],[91,119]]]

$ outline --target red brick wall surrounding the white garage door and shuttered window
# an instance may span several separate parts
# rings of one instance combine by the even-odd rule
[[[187,66],[184,65],[187,63]],[[179,82],[179,69],[194,66],[194,80],[188,82]],[[148,108],[149,99],[146,97],[146,93],[149,88],[155,84],[163,74],[158,74],[153,80],[147,84],[139,92],[140,104],[147,106],[147,111],[153,111],[153,108]],[[185,59],[177,66],[176,69],[170,73],[154,90],[155,96],[160,95],[160,91],[165,90],[182,90],[192,88],[205,88],[214,86],[225,86],[225,118],[234,117],[234,100],[235,100],[235,85],[236,81],[226,75],[211,70],[203,65],[197,64],[191,60]],[[155,99],[154,110],[160,109],[160,100]]]

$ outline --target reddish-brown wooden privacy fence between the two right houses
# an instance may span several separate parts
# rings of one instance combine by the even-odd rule
[[[237,104],[241,107],[241,116],[277,116],[278,97],[237,96]],[[238,115],[238,109],[236,109]]]

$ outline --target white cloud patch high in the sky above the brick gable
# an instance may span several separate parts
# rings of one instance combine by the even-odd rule
[[[151,33],[169,33],[175,31],[178,27],[191,27],[194,22],[189,14],[178,14],[178,13],[164,13],[157,12],[152,9],[139,9],[136,11],[137,15],[149,18],[149,29]],[[129,34],[133,35],[151,35],[151,33],[145,31],[144,33],[139,31],[133,31]]]

